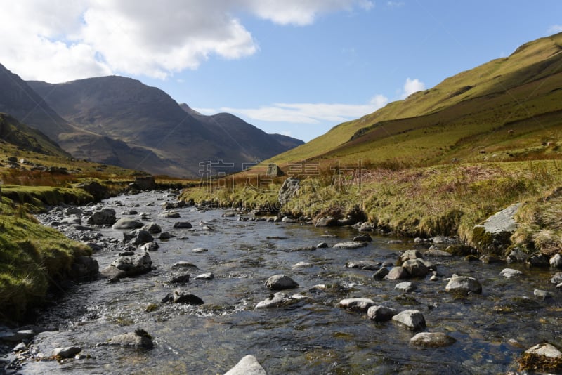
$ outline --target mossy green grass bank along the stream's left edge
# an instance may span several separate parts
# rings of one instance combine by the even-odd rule
[[[89,246],[41,225],[34,213],[169,186],[178,184],[155,183],[154,178],[85,178],[69,187],[1,185],[0,322],[13,325],[32,318],[30,312],[44,303],[49,290],[60,291],[67,280],[84,276],[73,265],[91,255]]]

